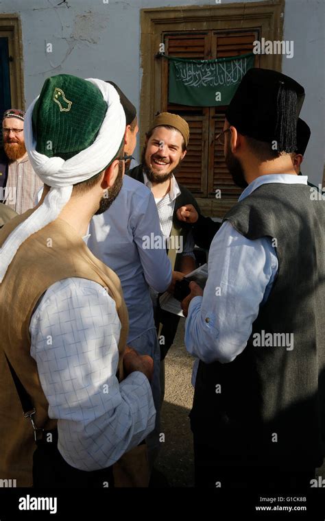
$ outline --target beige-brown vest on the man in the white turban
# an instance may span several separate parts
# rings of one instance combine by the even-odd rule
[[[0,230],[0,246],[28,210]],[[0,480],[16,479],[17,487],[32,486],[32,456],[36,448],[30,420],[23,417],[21,402],[4,353],[32,398],[38,427],[51,429],[56,420],[48,417],[48,402],[40,386],[36,362],[30,356],[29,322],[45,291],[58,280],[71,277],[93,280],[106,288],[116,302],[121,321],[121,354],[128,337],[128,311],[117,275],[101,263],[62,219],[56,219],[25,241],[8,267],[0,284]]]

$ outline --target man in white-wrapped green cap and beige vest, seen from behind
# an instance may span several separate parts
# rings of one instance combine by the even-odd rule
[[[0,230],[0,478],[19,487],[112,486],[112,465],[154,428],[152,359],[125,349],[121,284],[84,237],[121,189],[124,132],[101,80],[50,77],[26,113],[45,190]]]

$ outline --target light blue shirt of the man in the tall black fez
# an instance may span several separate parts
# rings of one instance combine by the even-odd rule
[[[263,175],[252,181],[239,201],[265,183],[307,184],[303,175]],[[270,237],[247,239],[225,221],[211,243],[203,297],[189,305],[185,345],[205,363],[233,361],[245,349],[260,306],[278,271]]]

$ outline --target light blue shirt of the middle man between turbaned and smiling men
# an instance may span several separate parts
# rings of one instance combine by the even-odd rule
[[[89,233],[89,249],[121,280],[130,321],[128,342],[131,342],[154,328],[149,286],[163,293],[171,282],[171,263],[151,191],[125,175],[118,197],[106,212],[93,217]],[[151,241],[152,247],[148,248],[145,237],[161,237],[161,240]]]

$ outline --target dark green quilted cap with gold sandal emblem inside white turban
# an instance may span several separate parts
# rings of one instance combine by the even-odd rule
[[[36,152],[64,160],[79,154],[95,141],[106,110],[91,82],[69,74],[47,78],[32,114]]]

